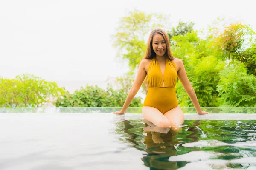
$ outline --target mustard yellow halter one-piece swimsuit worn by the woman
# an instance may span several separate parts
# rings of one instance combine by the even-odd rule
[[[166,65],[162,74],[160,65],[155,58],[148,67],[148,93],[143,106],[157,108],[163,114],[175,108],[178,100],[175,92],[177,68],[173,61],[166,57]]]

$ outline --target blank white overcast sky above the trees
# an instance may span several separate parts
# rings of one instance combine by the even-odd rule
[[[217,17],[250,24],[254,0],[1,0],[0,76],[34,74],[65,86],[105,88],[129,71],[116,57],[111,35],[129,11],[170,15],[172,26],[192,21],[206,30]]]

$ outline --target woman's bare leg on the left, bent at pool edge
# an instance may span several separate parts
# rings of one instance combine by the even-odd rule
[[[166,116],[163,115],[157,108],[151,106],[144,106],[142,108],[142,114],[144,119],[154,123],[158,127],[170,127],[171,122]]]

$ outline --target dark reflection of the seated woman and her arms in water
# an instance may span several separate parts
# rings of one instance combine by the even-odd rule
[[[188,163],[186,161],[172,162],[168,160],[170,156],[177,155],[176,147],[183,142],[175,139],[175,136],[177,136],[181,131],[156,127],[151,122],[145,120],[144,122],[145,124],[133,120],[122,121],[124,125],[123,130],[126,135],[128,135],[126,136],[126,140],[133,144],[132,147],[146,152],[142,158],[145,166],[157,169],[175,170]],[[135,130],[135,125],[140,125],[140,127],[143,125],[143,128]],[[138,134],[138,132],[142,132],[142,130],[143,136]],[[196,133],[199,132],[195,127],[189,127],[188,130],[189,132],[195,130],[195,132],[189,134],[190,136],[195,136]]]

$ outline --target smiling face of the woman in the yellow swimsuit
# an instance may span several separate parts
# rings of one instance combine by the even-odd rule
[[[158,56],[163,56],[166,52],[166,42],[161,34],[155,34],[152,39],[152,46],[154,52]]]

